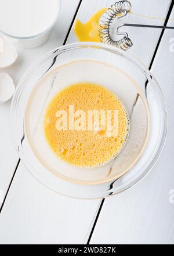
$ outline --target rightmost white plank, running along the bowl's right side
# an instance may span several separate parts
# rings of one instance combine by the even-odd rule
[[[173,17],[174,9],[168,26],[174,26]],[[142,182],[104,202],[90,240],[92,244],[174,243],[173,37],[173,31],[165,30],[151,68],[162,88],[168,108],[168,136],[164,150],[153,170]]]

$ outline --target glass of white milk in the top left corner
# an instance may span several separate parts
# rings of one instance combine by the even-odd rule
[[[60,0],[0,0],[0,33],[32,48],[43,44],[60,13]]]

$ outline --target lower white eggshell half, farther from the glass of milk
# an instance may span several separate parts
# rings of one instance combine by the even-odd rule
[[[15,86],[13,79],[7,73],[0,73],[0,104],[13,96]]]

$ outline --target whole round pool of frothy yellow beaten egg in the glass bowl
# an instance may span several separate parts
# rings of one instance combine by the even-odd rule
[[[116,111],[117,127],[114,115],[110,115],[112,129],[108,126],[107,115],[105,124],[99,115],[99,125],[95,126],[95,115],[89,118],[89,111],[94,110],[99,113],[104,110],[106,114],[108,110]],[[74,119],[71,116],[71,123],[70,111],[74,116]],[[85,122],[82,122],[82,113],[86,113]],[[64,121],[63,115],[67,120]],[[44,133],[50,148],[61,160],[91,168],[119,154],[128,139],[129,123],[128,112],[117,95],[99,84],[83,82],[63,88],[51,99],[44,116]]]

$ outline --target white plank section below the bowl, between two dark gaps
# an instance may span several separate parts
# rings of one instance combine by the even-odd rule
[[[0,216],[0,244],[83,244],[98,205],[47,189],[20,164]]]

